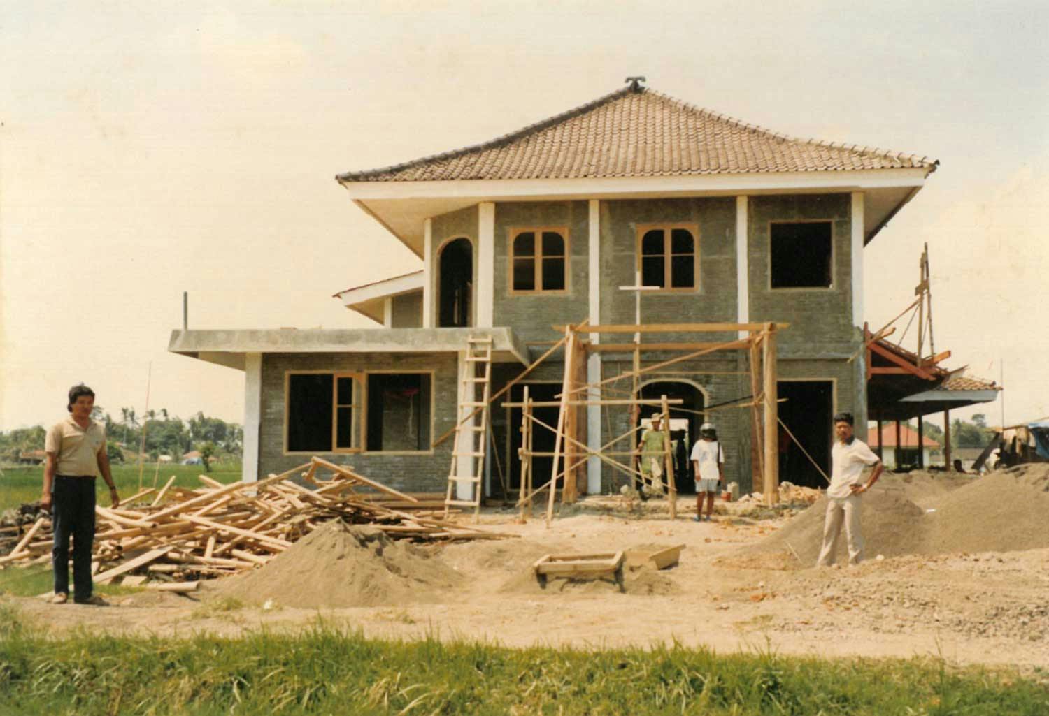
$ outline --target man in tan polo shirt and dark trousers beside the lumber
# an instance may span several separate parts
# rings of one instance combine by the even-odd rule
[[[69,599],[69,536],[72,536],[73,601],[77,604],[103,605],[91,593],[91,547],[94,542],[94,478],[102,472],[109,485],[113,506],[120,504],[116,485],[106,455],[106,429],[91,419],[94,392],[83,383],[69,389],[66,410],[69,417],[47,431],[44,451],[44,492],[40,504],[51,511],[55,547],[55,596],[51,602],[65,604]]]

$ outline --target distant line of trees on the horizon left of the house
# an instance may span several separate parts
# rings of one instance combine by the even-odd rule
[[[169,455],[177,461],[196,450],[207,465],[210,458],[239,459],[243,447],[244,431],[239,425],[209,417],[200,411],[184,420],[170,415],[166,408],[148,410],[142,415],[134,408],[121,408],[117,420],[105,408],[95,406],[91,419],[106,427],[109,459],[113,462],[123,462],[128,453],[137,454],[143,434],[144,453],[150,460]],[[34,451],[43,450],[46,434],[43,426],[0,432],[0,458],[17,462]]]

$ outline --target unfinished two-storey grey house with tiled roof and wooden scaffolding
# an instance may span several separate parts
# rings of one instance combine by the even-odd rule
[[[572,499],[636,479],[638,432],[666,412],[679,494],[703,421],[745,492],[818,486],[836,411],[863,436],[869,416],[997,390],[957,383],[929,337],[916,353],[864,322],[863,248],[937,164],[631,79],[491,142],[339,175],[420,260],[336,294],[381,327],[175,330],[169,349],[243,371],[245,479],[320,455],[402,491],[448,486],[456,506],[522,480]]]

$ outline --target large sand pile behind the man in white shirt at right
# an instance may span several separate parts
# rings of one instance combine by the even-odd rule
[[[863,496],[868,559],[1049,547],[1049,530],[1044,528],[1049,515],[1049,463],[1019,465],[983,477],[928,473],[907,477],[886,476]],[[799,566],[811,566],[819,554],[826,508],[823,497],[742,556],[792,549],[800,559]],[[845,559],[842,530],[838,561]]]

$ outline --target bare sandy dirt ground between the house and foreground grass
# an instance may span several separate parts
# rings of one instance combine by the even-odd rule
[[[872,559],[854,568],[816,569],[788,552],[757,554],[785,520],[578,514],[515,524],[489,514],[483,524],[519,540],[430,550],[463,576],[425,601],[337,609],[239,606],[209,585],[193,599],[138,594],[110,608],[55,607],[15,600],[38,625],[61,633],[235,635],[265,625],[298,630],[318,615],[380,637],[481,638],[508,646],[580,647],[678,642],[718,651],[774,649],[821,656],[940,655],[961,664],[1049,666],[1049,549]],[[796,518],[795,518],[796,519]],[[687,544],[679,566],[611,583],[553,581],[545,590],[531,563],[547,552],[603,551],[641,544]],[[877,544],[870,545],[877,554]],[[233,578],[236,579],[236,578]],[[249,600],[250,601],[250,600]]]

